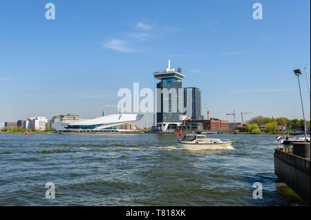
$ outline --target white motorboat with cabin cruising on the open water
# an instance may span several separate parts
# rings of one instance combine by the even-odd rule
[[[180,140],[178,138],[177,148],[185,148],[191,150],[216,150],[225,149],[234,141],[221,141],[220,139],[211,139],[205,137],[203,134],[189,134],[182,137]]]

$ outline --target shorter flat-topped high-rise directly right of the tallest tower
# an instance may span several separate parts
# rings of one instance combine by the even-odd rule
[[[187,117],[194,120],[202,120],[201,115],[201,90],[196,87],[183,88],[183,105]]]

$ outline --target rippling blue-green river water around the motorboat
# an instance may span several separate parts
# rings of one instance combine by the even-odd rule
[[[0,206],[306,205],[274,175],[275,135],[209,137],[238,142],[194,151],[176,149],[176,134],[0,134]]]

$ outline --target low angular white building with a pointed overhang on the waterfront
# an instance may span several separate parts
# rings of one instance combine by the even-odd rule
[[[115,126],[139,121],[143,114],[109,114],[94,119],[80,119],[75,121],[57,121],[52,127],[62,132],[84,132],[100,130],[117,130]]]

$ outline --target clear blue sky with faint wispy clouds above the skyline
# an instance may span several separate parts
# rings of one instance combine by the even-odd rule
[[[46,19],[46,3],[55,19]],[[253,19],[253,4],[263,19]],[[0,121],[117,112],[120,88],[181,68],[202,114],[302,118],[310,97],[310,1],[0,1]],[[241,121],[237,116],[237,121]],[[140,126],[150,126],[147,114]]]

